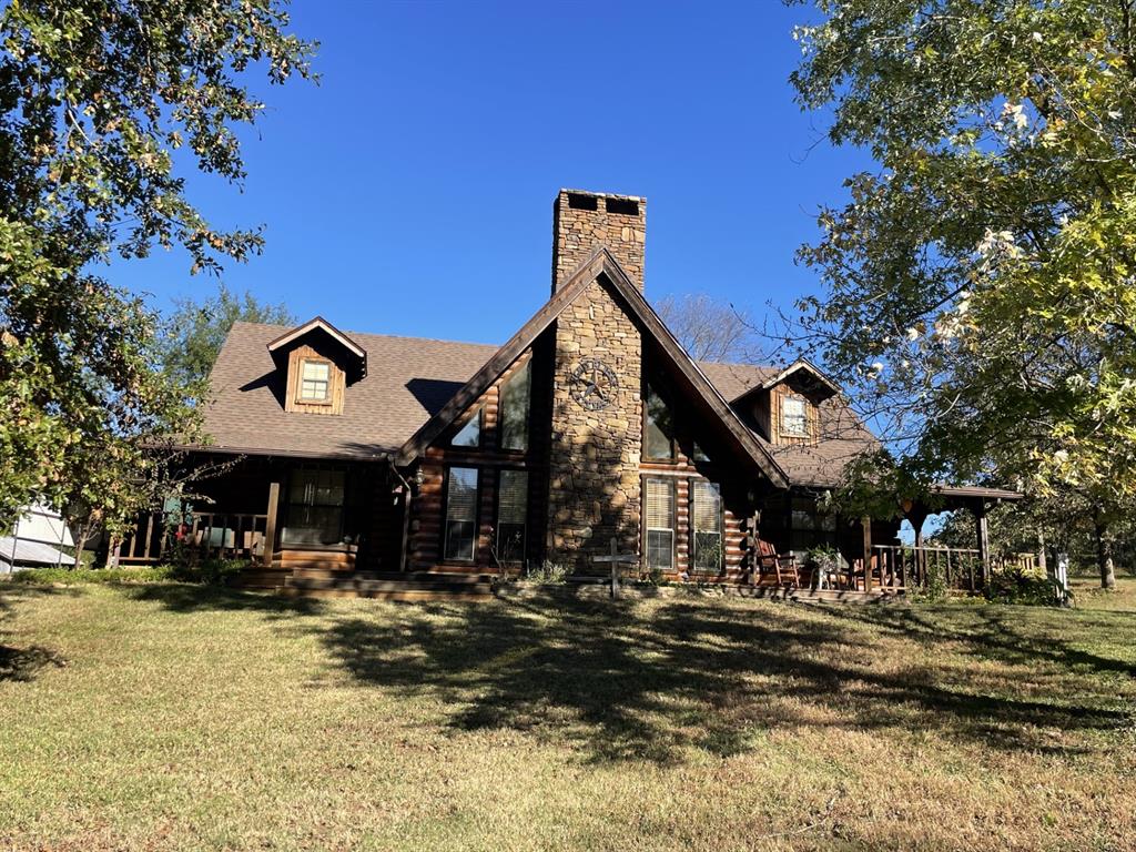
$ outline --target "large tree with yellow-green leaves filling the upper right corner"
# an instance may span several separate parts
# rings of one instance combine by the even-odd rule
[[[1136,503],[1136,9],[815,6],[793,84],[878,167],[801,251],[801,340],[917,481],[1076,494],[1106,527]]]

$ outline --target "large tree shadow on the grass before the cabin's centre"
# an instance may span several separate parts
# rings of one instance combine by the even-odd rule
[[[864,645],[878,632],[841,617],[712,602],[668,603],[650,617],[635,610],[538,599],[407,608],[319,629],[353,678],[437,699],[451,729],[523,730],[571,742],[596,761],[666,763],[692,746],[729,755],[760,732],[810,725],[933,729],[1003,750],[1066,752],[1084,746],[1055,743],[1049,730],[1127,720],[1101,696],[1031,698],[1028,670],[1001,671],[996,694],[969,691],[936,667],[893,660],[877,670]]]

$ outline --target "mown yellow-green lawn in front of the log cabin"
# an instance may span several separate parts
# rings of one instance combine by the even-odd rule
[[[0,849],[1133,849],[1134,675],[1103,607],[3,584]]]

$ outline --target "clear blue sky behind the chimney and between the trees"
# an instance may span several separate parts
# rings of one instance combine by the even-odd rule
[[[815,147],[787,83],[808,9],[323,2],[293,30],[321,83],[254,78],[243,194],[192,177],[215,223],[266,226],[224,279],[350,331],[503,342],[549,293],[561,186],[648,198],[646,287],[761,314],[816,287],[793,264],[863,154]],[[209,292],[184,254],[116,264],[152,294]]]

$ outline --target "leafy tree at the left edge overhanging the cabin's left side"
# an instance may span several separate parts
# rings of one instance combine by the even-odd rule
[[[264,109],[243,76],[309,75],[287,24],[277,0],[0,10],[0,527],[32,501],[128,515],[153,448],[194,428],[157,317],[103,267],[181,245],[217,270],[259,249],[259,232],[212,227],[183,173],[241,182],[236,128]]]

